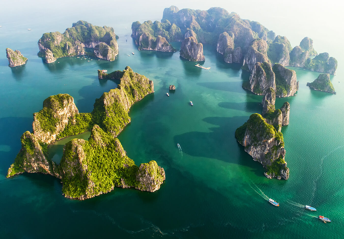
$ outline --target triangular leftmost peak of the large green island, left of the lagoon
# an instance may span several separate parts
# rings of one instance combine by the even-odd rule
[[[47,157],[47,144],[42,143],[29,131],[26,131],[20,140],[22,148],[8,169],[7,178],[23,172],[40,172],[61,178],[57,164]]]

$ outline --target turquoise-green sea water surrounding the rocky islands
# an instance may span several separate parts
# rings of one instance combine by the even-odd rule
[[[331,76],[336,95],[306,86],[319,73],[290,67],[297,72],[300,89],[296,97],[276,101],[278,108],[286,100],[291,107],[290,124],[282,128],[290,178],[269,180],[261,164],[234,137],[249,115],[262,110],[262,96],[241,88],[248,75],[240,65],[226,64],[209,45],[204,45],[204,66],[211,67],[210,72],[194,67],[178,52],[138,51],[130,38],[131,22],[137,19],[84,20],[115,28],[120,37],[117,60],[64,57],[44,64],[36,56],[37,40],[44,32],[63,32],[72,22],[1,23],[1,237],[343,238],[343,55],[334,55],[339,65],[337,75]],[[32,30],[27,31],[28,27]],[[180,47],[180,43],[174,45]],[[21,50],[28,62],[8,67],[6,47]],[[64,198],[60,180],[49,175],[6,178],[21,147],[20,136],[32,130],[32,113],[42,109],[45,98],[68,93],[79,112],[90,112],[95,98],[118,83],[98,80],[97,69],[111,72],[126,66],[153,80],[155,93],[131,107],[131,123],[118,138],[137,165],[153,159],[165,169],[160,190],[115,188],[75,201]],[[175,92],[168,90],[170,84],[176,86]],[[61,143],[51,146],[50,153],[58,162]],[[269,197],[280,206],[269,204]],[[306,211],[302,208],[306,204],[318,211]],[[319,215],[332,222],[322,223],[316,218]]]

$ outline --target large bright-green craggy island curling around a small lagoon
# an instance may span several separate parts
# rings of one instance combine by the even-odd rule
[[[165,171],[151,160],[139,166],[126,155],[116,136],[130,123],[135,102],[154,91],[153,81],[130,67],[108,75],[119,79],[116,89],[96,99],[91,113],[79,113],[68,94],[52,95],[34,113],[33,132],[21,137],[22,148],[7,177],[40,172],[61,179],[65,197],[84,200],[110,192],[114,187],[134,187],[154,192],[165,180]],[[60,164],[50,160],[47,147],[55,140],[90,130],[88,140],[65,144]]]

